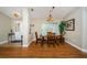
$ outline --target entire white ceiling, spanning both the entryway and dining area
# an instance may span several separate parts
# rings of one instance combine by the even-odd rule
[[[33,11],[30,11],[31,19],[46,19],[50,14],[50,10],[52,9],[52,7],[31,7],[31,8],[33,9]],[[12,17],[13,12],[19,12],[21,17],[22,9],[23,8],[20,8],[20,7],[0,7],[0,12],[14,19]],[[76,8],[75,7],[55,7],[52,12],[52,15],[54,19],[62,19],[74,9]]]

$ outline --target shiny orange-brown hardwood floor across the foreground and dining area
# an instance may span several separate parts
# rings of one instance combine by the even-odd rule
[[[35,57],[35,58],[83,58],[87,57],[87,54],[80,52],[79,50],[70,46],[67,43],[56,45],[50,47],[44,44],[41,46],[41,43],[35,44],[32,42],[29,47],[21,47],[21,46],[0,46],[0,57]]]

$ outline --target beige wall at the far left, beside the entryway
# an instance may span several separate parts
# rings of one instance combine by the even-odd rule
[[[11,30],[11,19],[0,13],[0,42],[8,41],[8,33]],[[1,44],[1,43],[0,43]]]

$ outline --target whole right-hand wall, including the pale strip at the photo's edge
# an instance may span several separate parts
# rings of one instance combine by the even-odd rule
[[[75,31],[66,32],[66,41],[87,52],[87,8],[78,8],[70,12],[65,20],[75,19]]]

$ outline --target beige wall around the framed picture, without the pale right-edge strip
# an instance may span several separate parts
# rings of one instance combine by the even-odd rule
[[[66,31],[66,41],[70,44],[78,46],[81,48],[83,44],[83,20],[81,20],[81,8],[77,8],[76,10],[72,11],[65,20],[75,19],[75,31]]]

